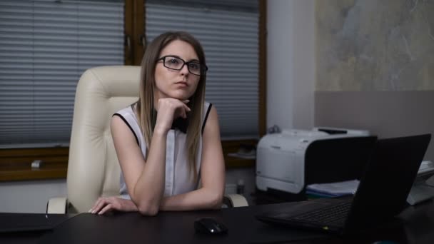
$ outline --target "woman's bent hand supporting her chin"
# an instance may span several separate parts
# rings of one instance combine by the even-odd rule
[[[176,98],[158,99],[158,115],[155,128],[153,129],[154,133],[167,133],[176,118],[187,118],[187,113],[190,112],[191,109],[188,108],[186,103],[188,103],[188,100],[181,101]]]

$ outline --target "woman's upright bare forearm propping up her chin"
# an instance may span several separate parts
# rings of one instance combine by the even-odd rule
[[[161,204],[166,181],[167,132],[154,131],[148,157],[131,198],[144,215],[156,215]]]

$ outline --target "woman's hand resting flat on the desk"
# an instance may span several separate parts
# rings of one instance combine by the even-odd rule
[[[94,206],[89,210],[89,213],[102,215],[104,213],[109,213],[113,210],[118,210],[122,212],[133,212],[137,211],[138,208],[132,200],[118,197],[98,198]]]

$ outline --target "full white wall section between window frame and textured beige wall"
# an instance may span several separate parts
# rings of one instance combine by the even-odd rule
[[[315,1],[267,1],[267,127],[313,127]]]

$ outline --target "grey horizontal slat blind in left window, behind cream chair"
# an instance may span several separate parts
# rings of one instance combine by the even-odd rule
[[[123,1],[0,1],[0,147],[68,144],[87,68],[123,64]]]

